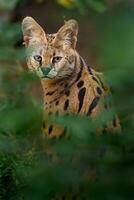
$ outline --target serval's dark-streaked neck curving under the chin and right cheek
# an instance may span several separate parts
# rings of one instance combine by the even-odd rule
[[[76,53],[75,68],[70,77],[60,80],[41,80],[45,101],[47,101],[50,96],[58,99],[64,94],[69,95],[68,90],[79,80],[84,65],[84,60]]]

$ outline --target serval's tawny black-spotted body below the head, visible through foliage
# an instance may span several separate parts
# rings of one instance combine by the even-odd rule
[[[81,62],[79,72],[71,79],[56,83],[44,81],[42,85],[45,112],[44,133],[48,137],[58,137],[66,133],[65,128],[57,127],[47,121],[51,114],[56,116],[87,115],[94,119],[106,109],[104,100],[109,95],[109,90],[95,75],[95,71],[88,69],[83,62]],[[119,128],[118,118],[114,116],[105,128],[117,130]]]

